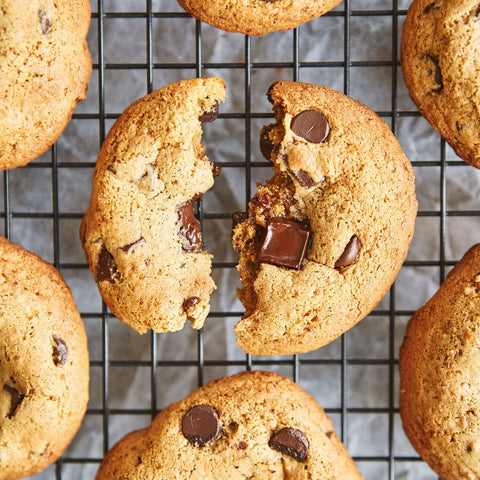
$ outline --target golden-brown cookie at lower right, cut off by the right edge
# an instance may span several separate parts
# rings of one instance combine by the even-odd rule
[[[400,414],[445,480],[480,477],[480,245],[410,320],[400,349]]]

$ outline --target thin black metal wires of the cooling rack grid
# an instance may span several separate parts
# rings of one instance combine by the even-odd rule
[[[269,166],[268,162],[253,161],[251,152],[251,139],[258,136],[257,131],[254,131],[252,122],[257,119],[270,119],[271,112],[256,113],[252,111],[252,72],[254,70],[265,69],[289,69],[292,71],[292,80],[302,80],[302,73],[308,69],[331,69],[342,68],[344,72],[343,90],[349,95],[352,89],[352,69],[355,67],[386,67],[391,69],[391,106],[390,109],[378,111],[377,113],[384,119],[390,121],[392,131],[397,133],[399,121],[403,118],[415,118],[419,114],[416,111],[403,111],[398,104],[398,72],[399,59],[398,51],[398,33],[401,26],[401,21],[405,17],[406,11],[399,8],[398,0],[392,0],[392,7],[385,9],[360,10],[353,9],[353,0],[345,0],[341,6],[332,12],[326,14],[326,17],[338,17],[344,21],[344,57],[341,61],[301,61],[300,59],[300,42],[302,35],[302,27],[296,29],[292,36],[292,60],[285,60],[280,62],[258,62],[252,61],[252,40],[246,36],[244,41],[244,62],[204,62],[203,61],[203,25],[199,21],[194,22],[195,28],[195,62],[174,63],[174,62],[155,62],[153,54],[153,22],[156,19],[174,21],[181,18],[190,18],[188,14],[179,11],[176,7],[176,1],[162,2],[168,3],[166,10],[156,10],[154,0],[146,0],[143,11],[135,12],[117,12],[107,11],[104,5],[104,0],[92,0],[94,3],[92,20],[91,36],[96,39],[96,50],[98,52],[98,59],[93,65],[93,77],[98,82],[98,111],[94,113],[75,113],[73,120],[94,120],[98,122],[98,137],[100,144],[105,138],[107,125],[112,120],[118,118],[120,112],[109,113],[106,109],[106,81],[105,74],[110,70],[140,70],[146,73],[146,91],[151,92],[154,88],[154,74],[163,70],[175,69],[191,69],[195,75],[201,76],[207,70],[215,69],[235,69],[242,71],[244,74],[244,110],[241,112],[222,113],[220,119],[239,119],[244,121],[245,128],[245,161],[232,162],[225,159],[221,165],[225,169],[241,168],[245,174],[245,198],[244,202],[247,205],[251,195],[252,180],[256,178],[256,170],[262,167]],[[105,0],[106,1],[106,0]],[[378,2],[377,2],[378,3]],[[385,3],[388,3],[387,0]],[[368,60],[368,61],[352,61],[351,59],[351,23],[354,18],[366,17],[389,17],[392,25],[392,45],[391,45],[391,59],[390,60]],[[141,19],[145,21],[145,36],[146,36],[146,62],[139,63],[111,63],[109,58],[105,55],[105,39],[104,26],[109,19]],[[96,26],[96,32],[95,32]],[[448,167],[463,167],[465,164],[460,160],[447,160],[445,143],[440,140],[440,157],[437,159],[427,159],[412,162],[415,169],[429,168],[439,169],[439,210],[421,210],[419,218],[431,217],[438,218],[438,237],[440,241],[439,257],[437,259],[420,259],[407,261],[405,267],[435,267],[439,270],[439,283],[445,278],[447,269],[453,265],[454,261],[449,261],[446,258],[446,228],[447,219],[449,217],[479,217],[479,210],[449,210],[447,208],[447,168]],[[61,185],[61,173],[70,169],[87,169],[91,171],[94,167],[94,162],[69,162],[58,158],[57,147],[54,146],[50,151],[50,159],[42,157],[25,167],[27,170],[42,170],[51,172],[51,189],[52,189],[52,208],[50,212],[44,211],[22,211],[21,209],[12,206],[11,198],[11,176],[12,173],[6,171],[3,173],[3,204],[4,211],[2,212],[4,218],[4,233],[7,237],[14,237],[12,235],[12,227],[20,220],[43,220],[51,222],[52,230],[52,263],[61,271],[72,271],[80,273],[87,270],[84,262],[62,262],[61,258],[61,237],[60,228],[61,222],[65,220],[73,221],[78,224],[83,215],[82,211],[73,213],[62,212],[59,197],[59,185]],[[201,221],[208,220],[228,220],[227,213],[216,213],[208,211],[200,202],[198,212]],[[234,262],[215,262],[215,269],[234,269]],[[93,280],[92,280],[93,281]],[[309,368],[315,366],[336,366],[339,369],[341,392],[338,405],[326,409],[330,415],[340,417],[339,435],[342,440],[347,442],[349,434],[349,419],[352,415],[378,415],[380,417],[387,416],[387,449],[382,455],[355,455],[355,460],[358,465],[373,462],[384,466],[384,475],[378,477],[379,480],[394,480],[396,478],[396,466],[401,463],[415,463],[421,462],[416,455],[400,455],[396,453],[395,438],[398,423],[395,422],[398,417],[398,408],[396,406],[396,390],[395,390],[395,376],[398,364],[398,352],[395,345],[395,328],[399,318],[409,317],[414,312],[409,309],[399,309],[396,304],[395,287],[392,288],[389,294],[388,306],[377,309],[370,315],[373,317],[388,318],[388,354],[384,358],[350,358],[349,357],[349,342],[351,342],[350,333],[346,333],[341,340],[340,355],[332,358],[311,358],[304,355],[295,355],[292,357],[281,358],[256,358],[251,355],[245,355],[243,359],[216,359],[209,360],[205,356],[205,338],[202,331],[198,332],[196,337],[196,356],[195,358],[185,360],[159,360],[158,355],[158,335],[149,334],[149,356],[148,359],[138,360],[114,360],[109,355],[109,338],[110,325],[112,315],[109,313],[105,305],[102,306],[101,311],[81,311],[82,317],[86,321],[98,322],[100,325],[101,336],[101,358],[92,359],[92,369],[97,369],[101,372],[101,390],[102,399],[101,406],[91,407],[87,412],[87,417],[94,419],[101,419],[101,435],[102,435],[102,453],[95,457],[71,456],[68,452],[57,462],[55,468],[50,470],[52,475],[50,477],[57,480],[70,480],[73,478],[72,474],[66,474],[67,467],[90,465],[92,470],[95,470],[102,460],[102,455],[105,454],[112,446],[110,442],[112,417],[114,416],[148,416],[151,420],[158,411],[165,405],[159,405],[157,389],[159,387],[159,375],[164,369],[175,367],[191,367],[196,369],[197,384],[202,385],[206,378],[206,369],[210,367],[235,367],[238,370],[242,369],[257,369],[284,367],[289,369],[290,376],[295,381],[302,378],[302,373],[307,372]],[[241,311],[212,311],[210,314],[210,321],[217,319],[222,321],[226,317],[241,317]],[[354,366],[383,366],[388,370],[388,402],[386,407],[351,407],[349,406],[349,377],[351,375],[351,368]],[[111,375],[115,368],[128,367],[144,367],[149,369],[149,388],[148,396],[150,397],[149,408],[134,408],[124,409],[115,408],[111,406],[110,386]],[[147,393],[145,393],[147,394]],[[366,439],[368,441],[368,439]],[[81,477],[78,477],[81,478]],[[93,476],[92,476],[93,478]],[[433,477],[429,477],[433,478]]]

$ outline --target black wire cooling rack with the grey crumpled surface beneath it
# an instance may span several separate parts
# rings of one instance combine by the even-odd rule
[[[405,100],[398,47],[408,0],[344,0],[308,25],[262,39],[201,24],[176,0],[91,1],[93,74],[87,100],[49,152],[25,168],[3,173],[4,233],[60,269],[85,321],[91,354],[91,400],[83,426],[63,457],[35,478],[93,479],[105,452],[128,431],[146,426],[169,402],[196,386],[245,369],[275,370],[309,390],[333,419],[366,479],[437,478],[402,433],[398,348],[409,317],[433,293],[432,287],[422,291],[424,279],[433,278],[437,288],[475,243],[468,225],[473,230],[479,226],[480,211],[465,199],[467,193],[459,197],[455,189],[466,179],[471,192],[480,180]],[[332,31],[341,38],[340,54],[331,54],[338,51],[337,41],[335,49],[325,49],[318,58],[309,56],[312,38]],[[264,43],[269,41],[282,42],[281,58],[258,55],[269,51]],[[227,55],[218,56],[216,45],[224,45]],[[230,58],[232,51],[237,55]],[[180,333],[139,336],[108,312],[88,271],[78,227],[108,129],[129,103],[154,88],[212,73],[227,77],[228,95],[236,98],[215,124],[229,125],[238,151],[212,152],[218,140],[215,127],[205,127],[204,141],[223,175],[234,176],[243,189],[237,210],[245,209],[255,181],[271,175],[258,149],[258,135],[273,117],[264,97],[278,79],[327,84],[363,101],[390,125],[414,165],[420,210],[413,254],[377,309],[317,352],[268,358],[245,355],[238,347],[229,351],[223,344],[233,343],[232,326],[243,312],[232,300],[235,292],[221,287],[203,331],[187,325]],[[122,85],[129,88],[121,90]],[[219,255],[213,252],[214,272],[220,278],[235,275],[236,265],[228,239],[231,210],[228,202],[222,204],[221,191],[217,202],[199,206],[207,247],[209,229],[215,235],[219,228],[225,235],[226,246]],[[461,235],[456,237],[456,231]],[[412,303],[398,293],[408,284],[421,292]],[[184,348],[178,351],[180,342]]]

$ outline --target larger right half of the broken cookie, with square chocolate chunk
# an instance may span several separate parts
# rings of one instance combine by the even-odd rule
[[[339,92],[277,82],[276,122],[261,150],[275,175],[259,185],[232,241],[245,315],[237,343],[256,355],[331,342],[383,298],[407,255],[413,169],[388,126]]]

